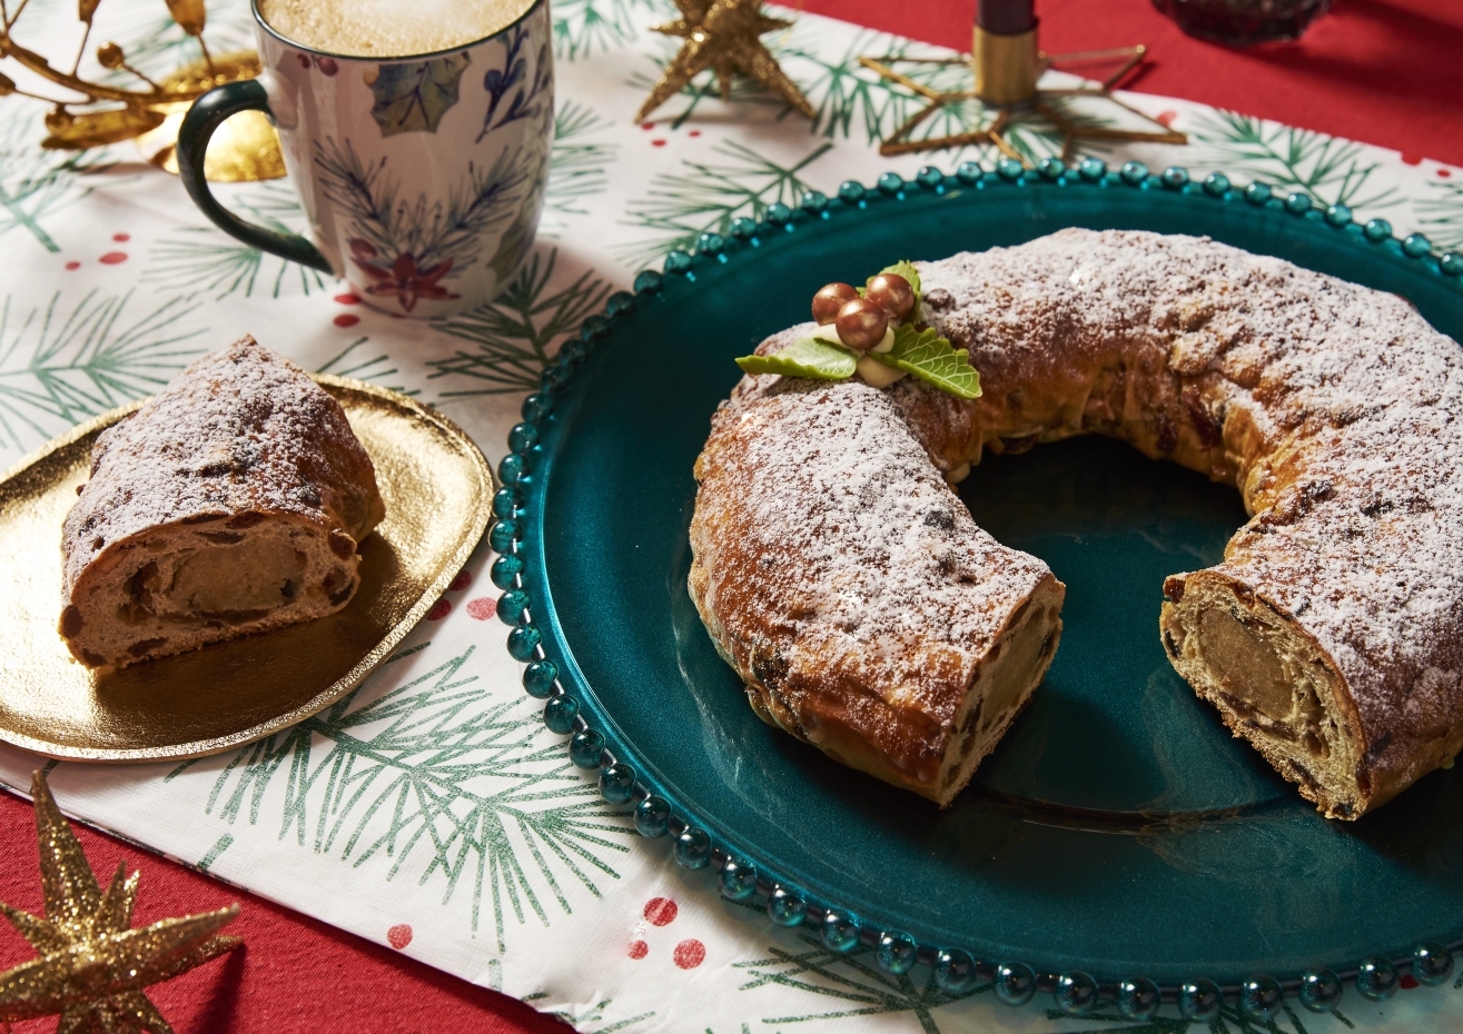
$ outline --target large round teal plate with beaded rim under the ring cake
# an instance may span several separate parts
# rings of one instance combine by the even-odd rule
[[[494,503],[499,613],[516,622],[514,655],[534,661],[525,686],[546,721],[575,733],[582,768],[607,766],[606,797],[641,832],[666,838],[644,850],[674,841],[683,864],[723,870],[730,898],[781,888],[774,918],[834,949],[882,939],[881,965],[938,962],[949,992],[999,977],[1007,1000],[1056,989],[1081,1009],[1083,974],[1100,997],[1146,978],[1165,1000],[1200,977],[1242,997],[1270,974],[1295,993],[1305,971],[1355,984],[1369,956],[1404,967],[1419,942],[1457,949],[1456,771],[1328,822],[1166,661],[1163,576],[1216,563],[1245,521],[1235,490],[1173,464],[1077,439],[988,458],[961,486],[976,521],[1046,560],[1068,595],[1031,706],[947,810],[764,725],[718,658],[686,594],[692,464],[733,357],[806,319],[828,281],[1072,225],[1207,234],[1402,294],[1463,338],[1456,257],[1385,224],[1173,170],[1001,171],[887,176],[772,206],[642,273],[566,345],[525,402]],[[1362,971],[1378,993],[1396,980],[1385,964]],[[1268,987],[1249,987],[1261,1014]]]

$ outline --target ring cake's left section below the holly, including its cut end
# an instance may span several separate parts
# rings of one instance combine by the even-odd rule
[[[691,595],[756,714],[948,803],[1055,655],[1061,582],[976,528],[868,385],[743,399],[696,477]]]

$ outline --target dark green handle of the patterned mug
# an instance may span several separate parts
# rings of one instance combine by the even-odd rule
[[[319,269],[322,273],[334,276],[335,271],[331,269],[329,259],[320,254],[320,249],[304,237],[281,234],[244,222],[219,205],[209,192],[208,180],[203,178],[203,155],[208,152],[208,140],[214,136],[214,130],[224,124],[224,120],[240,111],[263,111],[269,116],[269,121],[274,121],[274,113],[269,111],[269,97],[262,83],[255,79],[224,83],[193,101],[193,107],[187,110],[183,126],[178,129],[178,178],[183,180],[183,187],[199,211],[230,237],[236,237],[250,247],[257,247],[260,252],[278,254],[281,259],[298,262],[301,266]]]

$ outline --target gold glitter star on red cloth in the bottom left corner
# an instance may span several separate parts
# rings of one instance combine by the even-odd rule
[[[60,1014],[57,1034],[173,1034],[142,989],[243,943],[215,936],[238,905],[133,930],[139,873],[124,878],[119,864],[102,891],[41,772],[31,777],[31,796],[45,918],[6,904],[0,913],[41,956],[0,973],[0,1021],[9,1030],[15,1021]]]

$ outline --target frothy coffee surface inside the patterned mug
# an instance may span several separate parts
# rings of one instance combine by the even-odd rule
[[[534,0],[257,0],[284,38],[331,54],[410,57],[464,47],[512,25]]]

